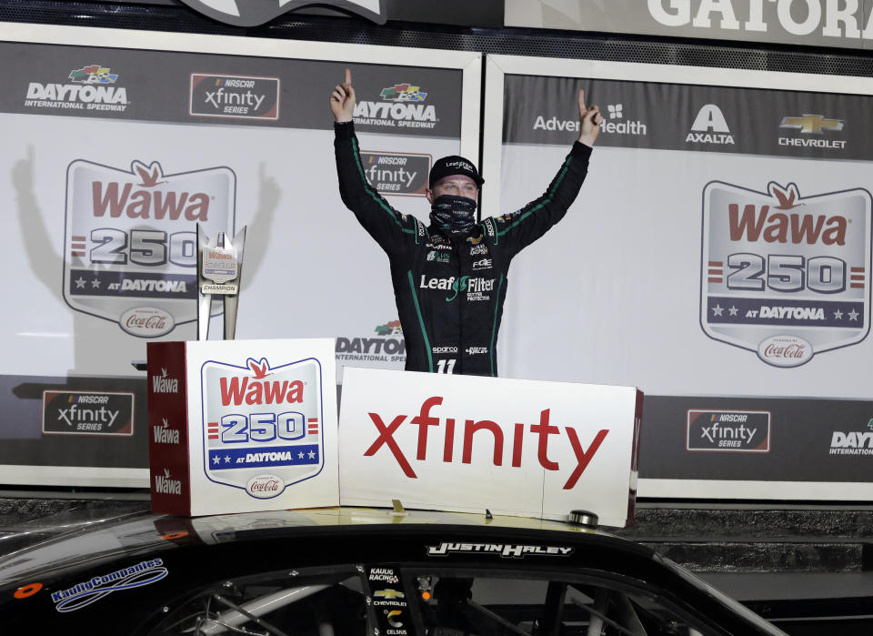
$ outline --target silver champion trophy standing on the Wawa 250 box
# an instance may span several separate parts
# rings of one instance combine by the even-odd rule
[[[212,295],[221,294],[225,308],[225,336],[236,335],[236,311],[239,308],[239,284],[243,273],[243,245],[246,227],[231,242],[224,232],[210,241],[197,224],[197,339],[209,337]]]

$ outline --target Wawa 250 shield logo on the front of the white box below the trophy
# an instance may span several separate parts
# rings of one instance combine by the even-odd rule
[[[321,365],[211,360],[201,370],[206,477],[271,499],[324,467]]]

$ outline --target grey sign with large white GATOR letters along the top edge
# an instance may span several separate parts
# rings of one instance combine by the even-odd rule
[[[506,0],[506,24],[853,48],[868,48],[873,40],[873,12],[859,0],[570,0],[560,9],[554,5]]]

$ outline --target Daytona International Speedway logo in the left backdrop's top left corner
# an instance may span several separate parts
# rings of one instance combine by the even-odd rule
[[[73,84],[42,84],[27,86],[25,106],[72,110],[112,110],[127,108],[127,89],[114,86],[118,75],[100,65],[76,68],[68,77]]]

